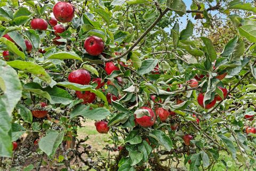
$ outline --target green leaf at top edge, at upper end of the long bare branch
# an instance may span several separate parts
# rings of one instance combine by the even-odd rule
[[[167,0],[166,6],[180,16],[186,14],[186,5],[182,0]]]

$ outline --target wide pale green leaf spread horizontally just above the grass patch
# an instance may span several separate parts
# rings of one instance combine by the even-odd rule
[[[86,119],[102,120],[109,115],[111,115],[111,113],[105,108],[96,108],[90,110],[90,106],[81,104],[70,112],[70,119],[76,116],[83,116]]]

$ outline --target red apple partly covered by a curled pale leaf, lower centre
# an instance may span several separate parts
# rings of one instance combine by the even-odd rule
[[[137,118],[137,115],[135,115],[135,120],[137,121],[137,123],[142,127],[153,126],[156,121],[156,115],[154,111],[148,107],[141,107],[140,109],[148,110],[150,116],[145,115],[145,116],[142,116],[141,118]]]

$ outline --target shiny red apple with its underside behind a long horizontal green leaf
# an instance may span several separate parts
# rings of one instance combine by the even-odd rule
[[[72,71],[68,75],[68,81],[70,83],[82,84],[87,85],[90,83],[91,75],[85,69],[77,69]]]

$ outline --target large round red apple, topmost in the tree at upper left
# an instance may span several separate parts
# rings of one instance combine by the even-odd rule
[[[58,2],[53,6],[53,15],[59,22],[69,22],[74,17],[74,6],[68,2]]]

